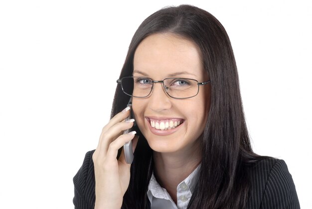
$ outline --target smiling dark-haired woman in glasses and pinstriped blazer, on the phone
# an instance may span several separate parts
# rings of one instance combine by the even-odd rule
[[[112,119],[74,177],[75,208],[300,208],[285,162],[251,149],[230,40],[210,13],[180,5],[149,16],[119,82]],[[118,150],[131,140],[130,166]]]

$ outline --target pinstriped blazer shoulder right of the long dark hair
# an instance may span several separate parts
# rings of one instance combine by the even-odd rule
[[[299,201],[292,175],[284,160],[265,158],[249,170],[251,182],[247,208],[298,209]]]

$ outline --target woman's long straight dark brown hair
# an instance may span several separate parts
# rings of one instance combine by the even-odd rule
[[[250,145],[236,62],[224,27],[209,12],[195,6],[160,9],[145,19],[134,34],[120,77],[132,75],[138,45],[155,33],[172,33],[196,43],[211,80],[210,111],[199,139],[199,179],[188,208],[244,208],[250,188],[248,167],[262,157],[253,153]],[[111,117],[124,109],[128,101],[129,96],[118,85]],[[150,208],[147,191],[153,173],[153,151],[139,128],[134,129],[140,140],[122,209]]]

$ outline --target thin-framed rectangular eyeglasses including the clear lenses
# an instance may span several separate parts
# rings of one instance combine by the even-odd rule
[[[186,99],[194,97],[199,92],[199,86],[206,85],[210,80],[198,82],[190,78],[165,78],[153,80],[147,77],[128,76],[117,80],[125,94],[132,97],[148,97],[154,87],[154,83],[162,83],[163,89],[169,97],[175,99]]]

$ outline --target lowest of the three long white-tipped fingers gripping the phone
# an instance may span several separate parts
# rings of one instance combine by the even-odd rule
[[[125,143],[129,142],[130,140],[132,140],[135,137],[135,134],[136,134],[135,131],[132,131],[132,132],[130,132],[128,134],[123,134],[120,137],[118,137],[114,142],[112,142],[109,145],[109,148],[108,148],[108,151],[107,151],[107,155],[106,155],[106,159],[108,161],[116,160],[116,157],[118,155],[118,150],[122,146],[124,146]]]

